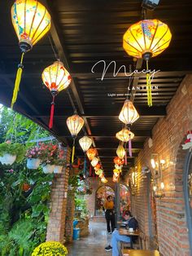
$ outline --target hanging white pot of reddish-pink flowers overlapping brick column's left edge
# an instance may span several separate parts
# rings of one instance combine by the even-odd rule
[[[45,174],[53,173],[55,169],[55,159],[57,157],[58,146],[52,143],[39,143],[40,159],[42,170]]]

